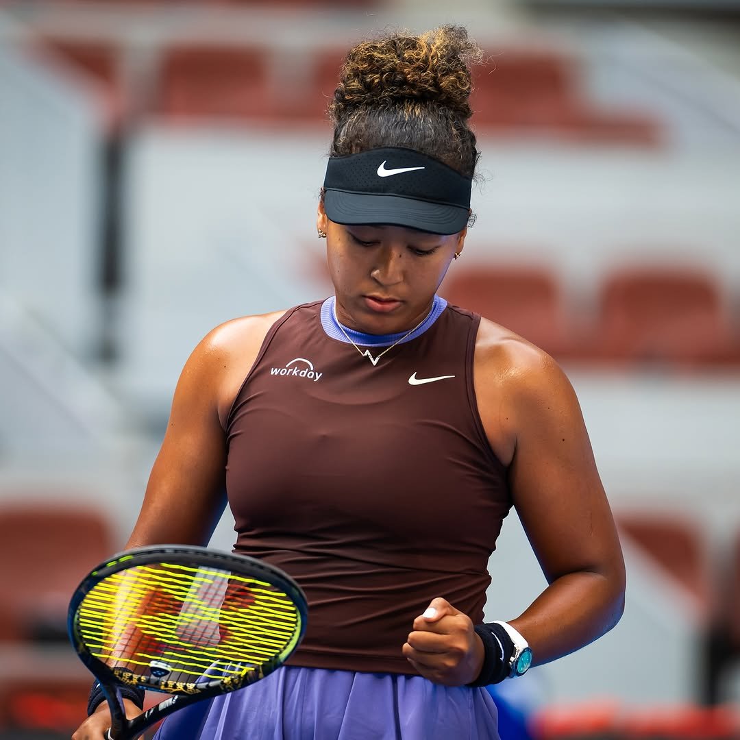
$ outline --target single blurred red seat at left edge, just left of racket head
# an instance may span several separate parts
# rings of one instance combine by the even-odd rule
[[[0,640],[66,639],[73,591],[117,545],[90,506],[25,497],[0,505]]]

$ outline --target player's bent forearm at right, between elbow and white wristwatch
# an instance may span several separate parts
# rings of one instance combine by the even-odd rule
[[[593,571],[555,579],[517,619],[508,620],[527,640],[534,665],[588,645],[622,616],[624,579]]]

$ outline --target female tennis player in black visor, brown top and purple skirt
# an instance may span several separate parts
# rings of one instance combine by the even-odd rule
[[[317,213],[334,295],[218,326],[186,363],[128,546],[206,543],[227,499],[235,551],[294,577],[309,619],[286,667],[174,713],[158,740],[496,739],[486,685],[621,616],[570,383],[436,295],[470,225],[478,56],[459,27],[350,50]],[[512,506],[548,586],[484,624]],[[110,723],[105,702],[89,709],[74,740]]]

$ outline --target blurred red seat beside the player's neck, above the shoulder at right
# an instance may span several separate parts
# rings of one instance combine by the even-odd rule
[[[440,295],[511,329],[556,357],[568,351],[559,284],[546,267],[463,267],[453,263]]]

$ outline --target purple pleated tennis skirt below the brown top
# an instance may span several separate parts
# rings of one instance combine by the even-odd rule
[[[485,688],[421,676],[283,666],[178,710],[154,740],[499,740]]]

